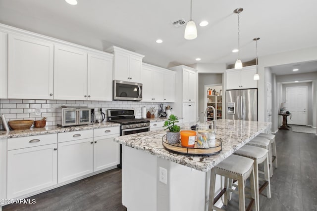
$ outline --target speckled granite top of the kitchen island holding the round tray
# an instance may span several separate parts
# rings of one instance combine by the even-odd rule
[[[120,136],[114,138],[114,141],[193,169],[208,171],[265,131],[270,124],[243,120],[217,120],[216,137],[222,139],[222,151],[209,157],[186,156],[168,152],[162,145],[165,130]]]

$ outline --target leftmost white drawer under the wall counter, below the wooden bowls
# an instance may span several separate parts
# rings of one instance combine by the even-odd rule
[[[57,134],[33,135],[18,138],[8,138],[8,150],[42,146],[57,143]]]

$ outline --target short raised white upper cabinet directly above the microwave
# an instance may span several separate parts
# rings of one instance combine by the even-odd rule
[[[141,82],[142,59],[144,55],[111,46],[106,52],[113,53],[113,80]]]

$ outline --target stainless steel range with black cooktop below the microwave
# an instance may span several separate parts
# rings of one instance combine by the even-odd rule
[[[108,109],[108,122],[120,124],[120,136],[139,132],[150,131],[150,121],[146,119],[136,119],[134,109]],[[122,164],[122,145],[120,144],[120,164]]]

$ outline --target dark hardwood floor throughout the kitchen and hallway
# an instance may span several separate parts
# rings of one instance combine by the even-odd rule
[[[263,191],[260,211],[317,211],[317,136],[279,130],[278,168],[271,177],[271,198]],[[30,197],[32,205],[7,205],[3,211],[126,211],[121,204],[121,170],[113,169]],[[233,194],[226,211],[237,211]],[[151,208],[149,208],[151,210]]]

